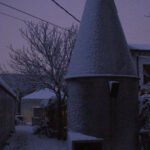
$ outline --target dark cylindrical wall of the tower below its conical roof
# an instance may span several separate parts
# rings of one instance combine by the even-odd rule
[[[120,82],[117,98],[110,96],[111,80]],[[69,130],[104,138],[107,150],[136,150],[137,82],[115,77],[69,80]]]

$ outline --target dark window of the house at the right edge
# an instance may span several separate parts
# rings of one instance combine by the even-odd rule
[[[150,83],[150,64],[143,65],[143,82],[144,84]]]

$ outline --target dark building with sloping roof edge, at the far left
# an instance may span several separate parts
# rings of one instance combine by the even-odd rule
[[[0,149],[15,129],[16,110],[16,97],[3,83],[0,82]]]

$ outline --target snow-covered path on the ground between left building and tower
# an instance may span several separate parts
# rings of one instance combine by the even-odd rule
[[[32,126],[16,127],[15,134],[9,139],[4,150],[66,150],[66,142],[34,135]]]

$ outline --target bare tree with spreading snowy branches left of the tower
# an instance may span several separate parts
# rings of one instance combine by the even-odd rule
[[[56,94],[58,101],[59,131],[61,105],[67,97],[64,76],[75,45],[78,28],[67,30],[50,28],[47,23],[26,23],[21,35],[28,47],[14,49],[10,46],[10,66],[18,73],[25,74],[33,86],[47,87]]]

